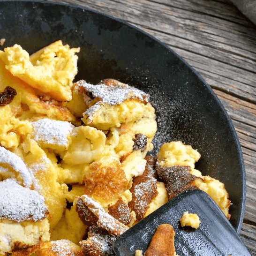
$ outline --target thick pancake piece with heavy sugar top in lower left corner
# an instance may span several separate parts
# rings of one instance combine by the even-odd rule
[[[13,179],[0,181],[0,255],[50,240],[44,197]]]

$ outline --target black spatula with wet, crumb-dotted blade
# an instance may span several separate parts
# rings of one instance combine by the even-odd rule
[[[196,213],[198,229],[182,228],[179,219],[185,211]],[[201,190],[189,190],[164,204],[120,235],[114,243],[117,256],[134,256],[136,249],[145,252],[160,224],[171,224],[179,256],[250,256],[233,226],[218,205]]]

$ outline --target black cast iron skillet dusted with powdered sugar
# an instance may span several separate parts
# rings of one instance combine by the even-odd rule
[[[118,79],[151,95],[159,145],[181,140],[202,157],[196,165],[226,185],[233,203],[230,221],[240,233],[246,182],[241,146],[210,86],[179,55],[157,39],[113,17],[87,8],[39,1],[1,1],[0,37],[29,53],[62,39],[81,47],[78,79],[98,83]]]

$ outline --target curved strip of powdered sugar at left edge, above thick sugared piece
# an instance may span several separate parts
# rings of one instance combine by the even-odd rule
[[[22,158],[0,146],[0,164],[5,165],[5,167],[1,168],[0,171],[8,171],[9,168],[14,169],[14,171],[20,173],[21,177],[23,178],[23,185],[30,188],[32,185],[32,178]]]

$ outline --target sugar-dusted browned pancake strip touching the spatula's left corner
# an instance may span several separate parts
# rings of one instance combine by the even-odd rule
[[[103,207],[90,196],[81,196],[76,203],[76,211],[85,225],[97,225],[109,235],[119,236],[128,226],[109,215]]]

